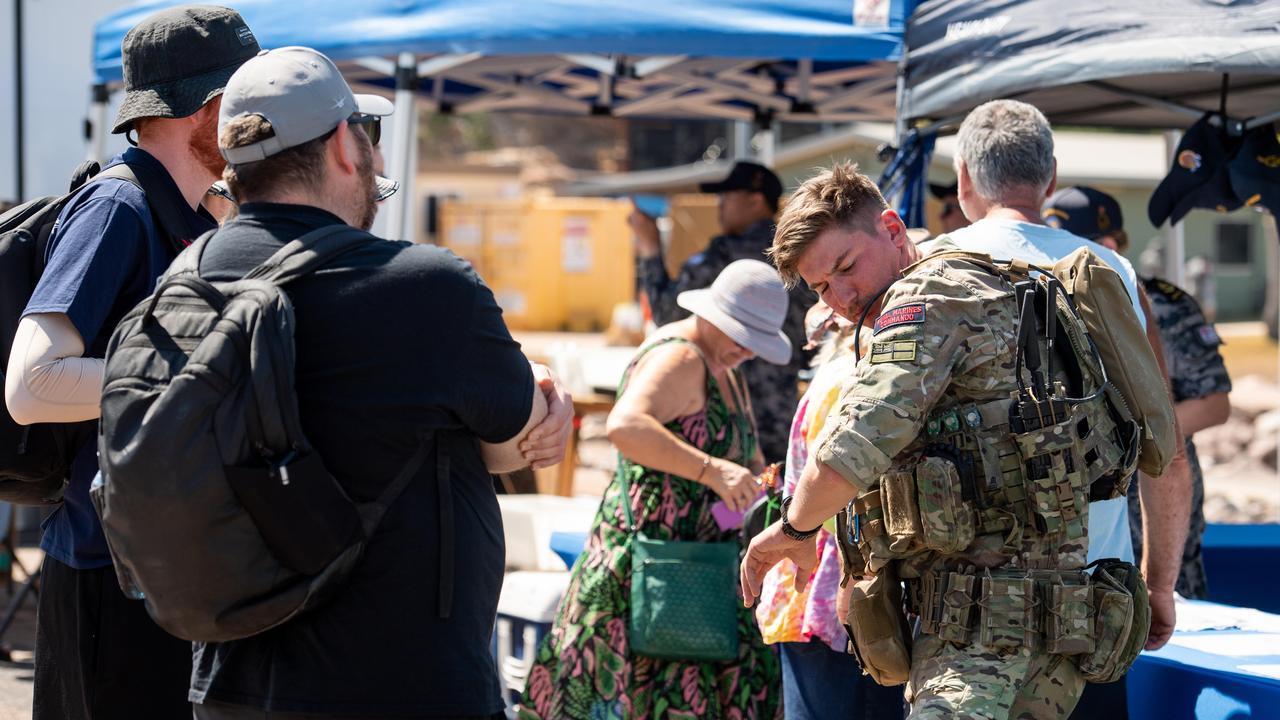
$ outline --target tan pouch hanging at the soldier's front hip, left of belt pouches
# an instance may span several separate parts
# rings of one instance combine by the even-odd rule
[[[902,583],[893,564],[847,588],[845,629],[863,671],[881,685],[899,685],[911,671],[911,635],[902,611]]]

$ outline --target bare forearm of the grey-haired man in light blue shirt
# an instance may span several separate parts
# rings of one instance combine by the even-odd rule
[[[1138,474],[1142,575],[1152,591],[1172,591],[1183,565],[1183,544],[1187,542],[1192,507],[1192,480],[1185,443],[1179,443],[1178,448],[1178,455],[1158,478]]]

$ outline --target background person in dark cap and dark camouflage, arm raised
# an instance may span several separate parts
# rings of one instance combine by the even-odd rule
[[[773,242],[773,217],[778,210],[782,182],[772,170],[755,163],[737,163],[723,182],[703,184],[701,190],[719,193],[719,220],[724,234],[712,238],[705,250],[690,256],[676,279],[667,274],[653,219],[639,210],[631,215],[640,255],[640,284],[649,299],[653,322],[659,325],[689,316],[689,310],[676,305],[677,295],[709,287],[721,270],[735,260],[764,260],[764,251]],[[804,350],[804,314],[815,300],[808,288],[791,290],[787,320],[782,325],[782,332],[791,340],[790,364],[772,365],[756,359],[742,365],[760,450],[769,462],[786,457],[787,430],[800,400],[796,379],[812,356]]]

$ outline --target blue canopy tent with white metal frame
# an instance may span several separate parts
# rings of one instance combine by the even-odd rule
[[[120,83],[120,41],[170,0],[131,5],[95,29],[93,129]],[[355,86],[396,94],[388,234],[412,197],[416,109],[774,120],[892,119],[906,18],[916,0],[241,0],[264,47],[306,45]],[[407,122],[406,122],[407,120]],[[412,204],[408,204],[410,206]]]

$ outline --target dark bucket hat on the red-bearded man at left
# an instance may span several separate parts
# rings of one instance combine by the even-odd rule
[[[141,118],[186,118],[221,94],[227,79],[257,55],[239,13],[180,5],[147,17],[124,36],[124,101],[113,133]]]

